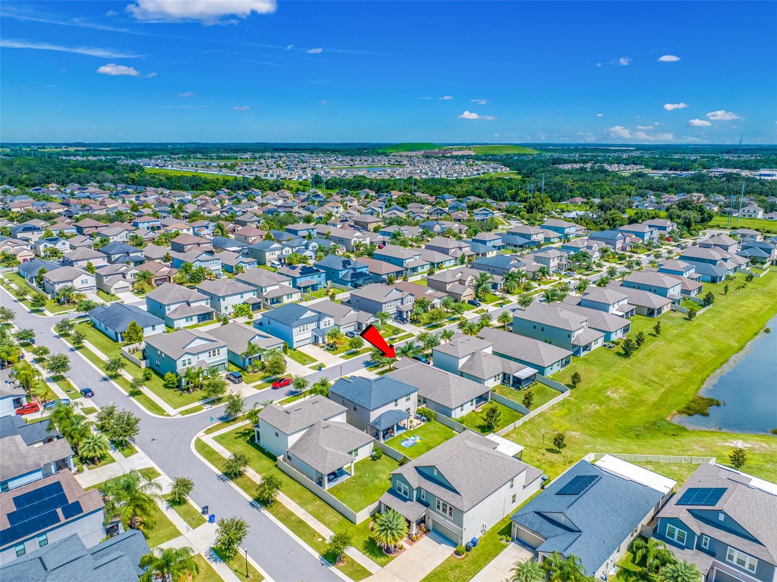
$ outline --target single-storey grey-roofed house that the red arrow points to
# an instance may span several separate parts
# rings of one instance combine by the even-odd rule
[[[487,386],[413,360],[400,361],[387,376],[415,386],[418,406],[450,418],[465,416],[489,401]]]

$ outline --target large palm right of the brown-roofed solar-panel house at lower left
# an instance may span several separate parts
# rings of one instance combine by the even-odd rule
[[[132,469],[108,481],[100,493],[106,499],[105,514],[109,519],[120,518],[124,528],[140,529],[141,524],[152,527],[161,490],[159,483],[149,481],[138,469]]]

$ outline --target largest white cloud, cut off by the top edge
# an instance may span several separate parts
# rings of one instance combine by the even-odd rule
[[[235,24],[235,19],[225,16],[246,18],[250,14],[271,14],[275,12],[275,0],[135,0],[127,5],[127,12],[135,19],[155,22],[198,21],[203,24]]]

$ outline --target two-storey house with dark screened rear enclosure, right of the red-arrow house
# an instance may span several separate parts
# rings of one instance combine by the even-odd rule
[[[537,378],[535,368],[495,356],[490,341],[460,333],[434,347],[432,361],[435,368],[458,374],[489,388],[503,384],[522,389]]]

